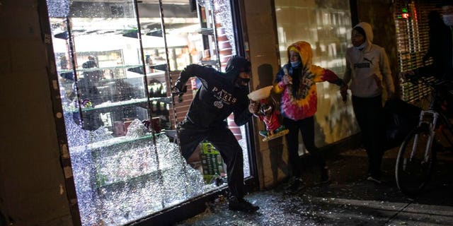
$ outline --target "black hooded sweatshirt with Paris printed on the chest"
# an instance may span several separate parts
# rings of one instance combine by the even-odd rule
[[[202,83],[190,104],[186,119],[202,128],[212,128],[224,125],[226,117],[233,112],[236,125],[246,124],[252,116],[248,112],[248,87],[237,85],[237,79],[239,73],[249,67],[250,62],[239,56],[229,59],[225,73],[198,64],[185,67],[178,78],[180,83],[187,83],[193,76],[200,78]]]

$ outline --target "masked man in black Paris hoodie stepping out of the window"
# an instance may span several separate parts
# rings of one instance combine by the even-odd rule
[[[247,59],[233,56],[226,64],[225,73],[209,66],[190,64],[181,71],[173,92],[186,92],[185,83],[196,76],[202,85],[190,104],[185,119],[178,125],[178,138],[183,157],[187,160],[201,141],[209,141],[219,150],[226,164],[230,210],[254,212],[253,206],[243,196],[242,148],[228,129],[226,117],[234,113],[238,126],[246,124],[258,106],[248,100],[248,81],[251,63]]]

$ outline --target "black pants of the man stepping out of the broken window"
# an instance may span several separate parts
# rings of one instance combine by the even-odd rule
[[[200,128],[185,120],[183,124],[180,124],[178,132],[181,152],[186,160],[192,155],[201,141],[209,141],[214,145],[214,148],[219,151],[225,162],[228,188],[231,195],[236,196],[236,198],[243,198],[242,148],[236,137],[226,126],[226,122],[222,126],[214,128]]]

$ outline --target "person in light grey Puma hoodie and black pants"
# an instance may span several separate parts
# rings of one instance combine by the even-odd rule
[[[394,82],[385,49],[373,44],[369,23],[352,28],[352,47],[346,51],[346,70],[343,81],[352,93],[352,107],[362,132],[362,144],[367,150],[369,167],[367,179],[381,183],[381,162],[384,153],[383,89],[387,98],[394,97]],[[342,90],[344,93],[347,90]]]

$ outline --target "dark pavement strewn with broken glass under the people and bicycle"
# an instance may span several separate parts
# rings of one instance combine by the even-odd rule
[[[384,155],[384,183],[365,180],[364,150],[348,150],[328,159],[331,184],[314,183],[319,172],[306,169],[307,188],[287,195],[285,184],[246,196],[258,213],[228,210],[218,198],[205,213],[176,225],[453,225],[453,153],[440,153],[428,191],[415,200],[398,191],[394,179],[396,149]]]

